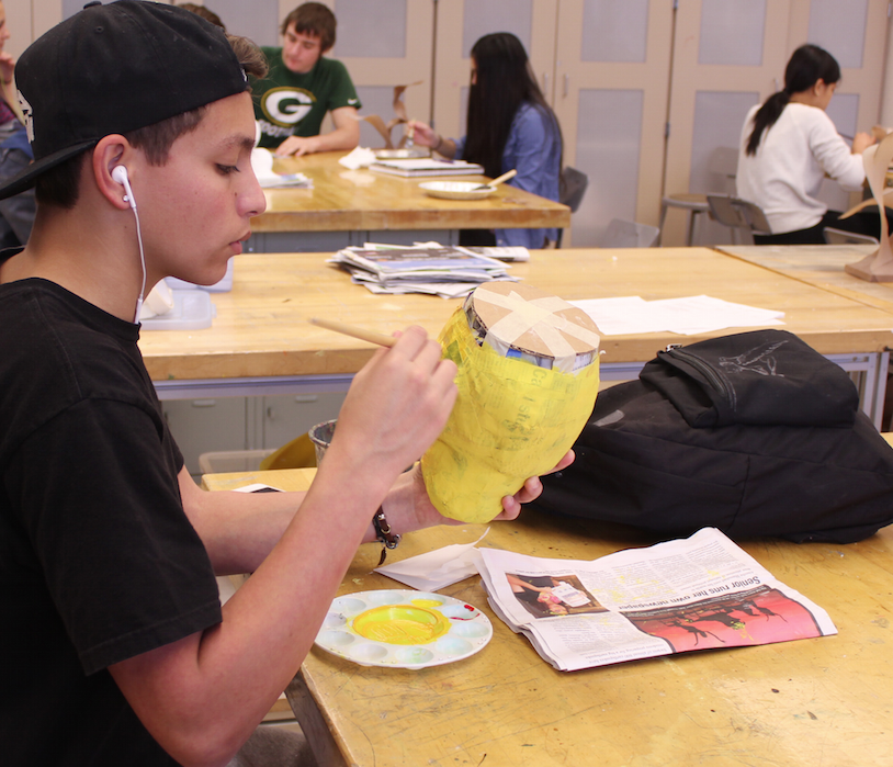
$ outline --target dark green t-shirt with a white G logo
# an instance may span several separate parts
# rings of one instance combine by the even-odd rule
[[[297,75],[282,60],[282,48],[264,47],[270,71],[253,84],[259,146],[274,149],[289,136],[318,136],[326,112],[362,104],[341,61],[319,57],[310,71]]]

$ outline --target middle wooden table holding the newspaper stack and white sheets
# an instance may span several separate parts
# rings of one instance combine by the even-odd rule
[[[205,330],[144,331],[139,346],[162,398],[344,391],[372,356],[371,343],[308,323],[323,316],[391,335],[418,324],[436,335],[460,305],[433,296],[374,295],[353,285],[324,253],[236,257],[234,287],[215,293]],[[891,341],[893,315],[708,248],[533,251],[511,273],[564,298],[707,294],[780,309],[785,329],[849,370],[866,372],[873,413],[878,357]],[[733,329],[711,334],[733,332]],[[635,377],[668,343],[707,336],[671,332],[602,338],[602,379]]]

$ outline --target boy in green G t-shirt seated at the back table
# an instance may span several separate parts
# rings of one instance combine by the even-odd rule
[[[283,46],[263,48],[270,71],[253,86],[259,146],[299,157],[360,143],[362,104],[350,75],[341,61],[323,57],[335,45],[336,23],[326,5],[305,2],[282,22]],[[335,129],[319,135],[326,112]]]

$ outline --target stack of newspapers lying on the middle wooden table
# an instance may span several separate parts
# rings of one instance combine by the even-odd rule
[[[517,281],[496,258],[437,242],[366,244],[339,250],[329,261],[349,271],[353,282],[373,293],[429,293],[460,298],[483,282]]]

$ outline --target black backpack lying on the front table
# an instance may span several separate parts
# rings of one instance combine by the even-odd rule
[[[893,449],[849,376],[782,330],[659,352],[599,393],[574,450],[536,508],[660,538],[849,543],[893,521]]]

